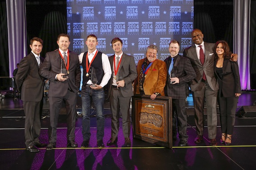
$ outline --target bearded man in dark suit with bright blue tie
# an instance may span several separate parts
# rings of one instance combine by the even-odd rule
[[[172,97],[172,138],[176,139],[178,126],[179,146],[185,146],[188,141],[187,114],[185,111],[186,84],[196,77],[190,59],[179,55],[180,43],[172,40],[169,44],[170,56],[164,60],[168,76],[165,85],[165,95]]]

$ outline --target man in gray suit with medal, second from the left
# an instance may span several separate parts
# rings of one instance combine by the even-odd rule
[[[57,123],[62,101],[66,104],[68,146],[77,147],[75,121],[77,92],[81,80],[79,59],[76,53],[68,50],[70,39],[67,34],[59,34],[57,44],[59,49],[47,52],[44,63],[40,67],[40,75],[50,81],[50,127],[49,144],[46,150],[52,150],[56,146]]]

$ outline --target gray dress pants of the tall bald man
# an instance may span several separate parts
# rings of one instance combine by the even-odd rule
[[[207,82],[200,82],[196,91],[192,92],[194,100],[194,119],[198,135],[203,136],[203,108],[204,98],[207,108],[208,138],[215,139],[217,132],[217,91],[213,91]]]

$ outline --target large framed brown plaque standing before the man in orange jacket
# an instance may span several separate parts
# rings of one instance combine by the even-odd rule
[[[132,96],[133,137],[172,149],[172,98]]]

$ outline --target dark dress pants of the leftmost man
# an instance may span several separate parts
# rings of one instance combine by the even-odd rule
[[[25,112],[25,144],[26,147],[32,146],[39,141],[41,116],[40,116],[40,102],[26,102],[23,101],[23,108]]]

